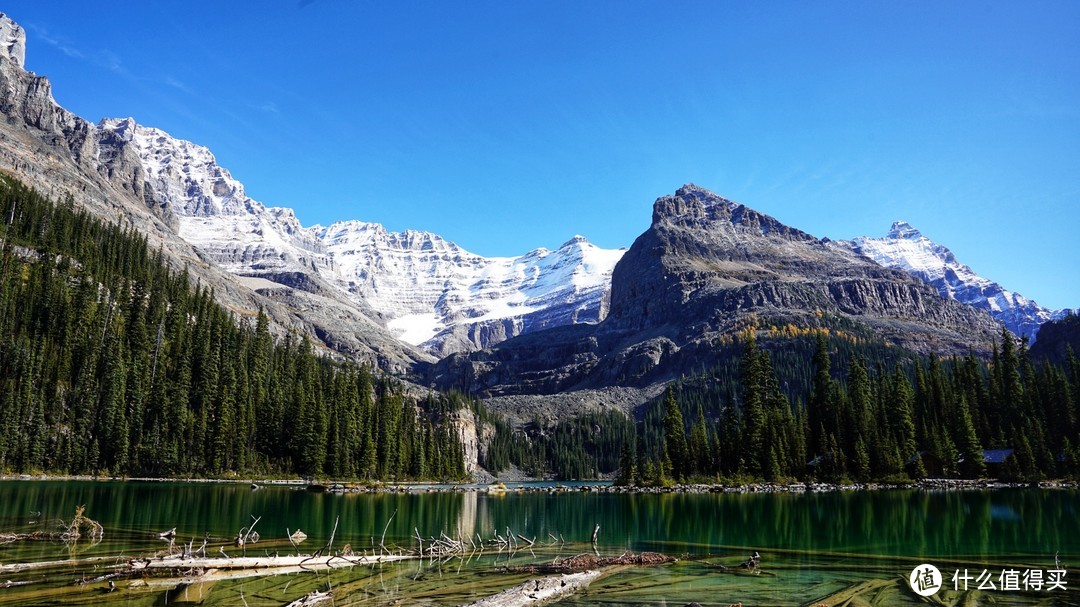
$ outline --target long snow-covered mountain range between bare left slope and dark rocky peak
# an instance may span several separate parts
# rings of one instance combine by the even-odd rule
[[[390,232],[379,224],[305,228],[291,208],[248,198],[202,146],[130,118],[103,120],[98,129],[135,147],[157,202],[177,216],[180,237],[218,265],[305,289],[313,285],[303,276],[313,275],[429,352],[475,350],[607,313],[611,270],[623,249],[575,237],[555,251],[488,258],[437,234]]]

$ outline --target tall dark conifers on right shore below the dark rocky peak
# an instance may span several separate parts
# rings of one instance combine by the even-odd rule
[[[1002,331],[989,361],[942,360],[860,351],[819,331],[770,339],[785,362],[778,374],[759,334],[774,332],[746,328],[723,368],[672,385],[646,412],[620,482],[1080,476],[1071,350],[1063,364],[1036,364],[1026,340]],[[1011,454],[988,469],[986,449]]]

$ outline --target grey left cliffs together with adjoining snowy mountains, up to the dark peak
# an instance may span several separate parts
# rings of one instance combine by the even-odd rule
[[[140,229],[170,243],[177,266],[199,260],[243,276],[260,295],[285,305],[269,309],[283,326],[310,324],[324,342],[350,354],[410,351],[394,345],[389,328],[443,355],[549,326],[598,322],[607,312],[610,272],[622,251],[599,249],[579,237],[553,252],[485,258],[435,234],[388,232],[376,224],[305,228],[292,210],[247,197],[202,146],[131,118],[94,125],[68,112],[53,100],[46,79],[23,69],[25,33],[0,17],[4,42],[0,109],[9,126],[17,127],[8,130],[10,146],[0,140],[0,162],[10,161],[44,191],[73,191],[109,220],[118,212],[136,215]],[[152,220],[141,221],[140,212],[127,207],[133,201]],[[218,284],[228,282],[221,275],[210,282],[224,302],[245,313],[266,305],[242,302],[242,294],[230,297],[230,288]],[[362,343],[372,340],[380,346]],[[402,363],[399,370],[426,358],[388,356]]]

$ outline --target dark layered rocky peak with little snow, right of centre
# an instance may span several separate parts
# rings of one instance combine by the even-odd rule
[[[901,340],[915,350],[942,331],[970,326],[974,341],[993,332],[988,319],[942,301],[905,273],[696,186],[657,201],[652,227],[613,283],[610,319],[634,331],[685,325],[685,318],[724,331],[747,313],[783,319],[820,310],[872,325],[917,319],[931,331]]]

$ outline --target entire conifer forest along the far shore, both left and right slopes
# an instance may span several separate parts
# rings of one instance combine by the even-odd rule
[[[171,270],[133,228],[0,179],[0,472],[360,480],[464,476],[451,421],[492,427],[481,463],[535,476],[1031,481],[1080,475],[1080,361],[916,356],[850,331],[747,326],[715,367],[638,410],[513,428],[451,394],[275,339]],[[850,327],[847,327],[850,329]],[[990,458],[987,449],[1009,449]]]

